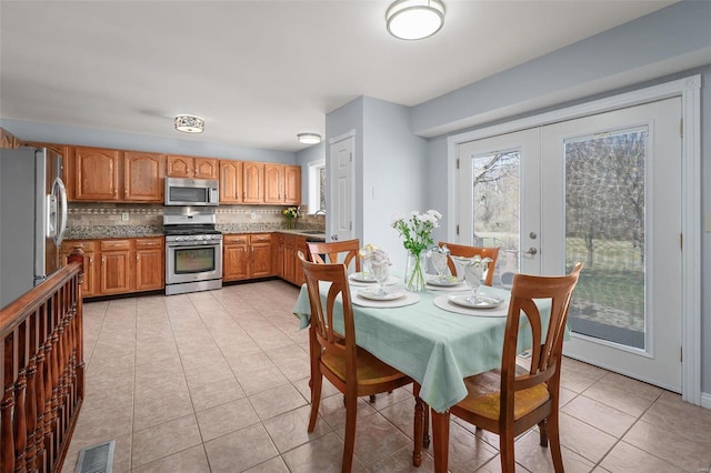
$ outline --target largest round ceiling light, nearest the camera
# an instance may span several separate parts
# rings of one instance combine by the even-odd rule
[[[431,37],[444,24],[441,0],[398,0],[385,13],[388,32],[404,40]]]

